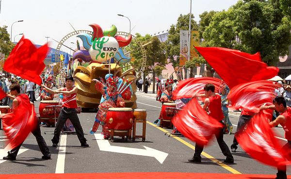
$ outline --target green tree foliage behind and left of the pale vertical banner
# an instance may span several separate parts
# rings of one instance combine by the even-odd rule
[[[163,45],[166,57],[170,59],[173,67],[179,66],[180,30],[189,30],[189,15],[179,15],[176,25],[170,27],[168,40]],[[194,15],[191,17],[191,30],[198,30]]]

